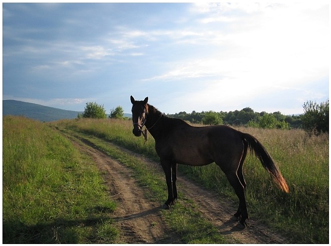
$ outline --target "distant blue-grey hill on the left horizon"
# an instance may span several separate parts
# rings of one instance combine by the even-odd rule
[[[45,122],[60,119],[74,119],[77,117],[78,113],[83,112],[64,110],[16,100],[2,101],[2,115],[21,115]]]

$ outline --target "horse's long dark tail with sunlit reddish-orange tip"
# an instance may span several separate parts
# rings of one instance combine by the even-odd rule
[[[261,161],[262,166],[268,171],[279,187],[286,193],[289,193],[288,184],[262,144],[247,133],[243,133],[243,141],[246,141],[250,153],[255,153],[256,157]]]

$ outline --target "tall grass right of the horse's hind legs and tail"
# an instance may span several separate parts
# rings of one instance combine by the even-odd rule
[[[254,180],[249,185],[252,209],[261,208],[259,213],[268,214],[269,224],[286,228],[288,235],[298,235],[304,243],[329,243],[329,135],[266,130],[262,136],[262,132],[248,131],[265,143],[290,187],[289,195],[271,190],[270,181],[252,172],[256,161],[248,159],[246,173],[248,180]]]

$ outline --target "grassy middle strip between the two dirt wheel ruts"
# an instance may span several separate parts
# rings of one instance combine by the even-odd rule
[[[75,135],[89,141],[98,149],[106,152],[112,158],[117,159],[124,165],[135,170],[134,178],[145,190],[145,195],[152,201],[163,203],[166,200],[166,184],[163,173],[156,167],[147,166],[142,160],[109,144],[108,141],[84,134],[75,133],[68,129],[57,126],[64,134]],[[181,200],[185,195],[180,194]],[[226,244],[226,239],[219,234],[218,230],[206,221],[202,214],[194,210],[192,202],[178,202],[170,210],[163,211],[163,216],[168,226],[181,236],[185,243],[194,244]],[[155,223],[152,224],[155,226]]]

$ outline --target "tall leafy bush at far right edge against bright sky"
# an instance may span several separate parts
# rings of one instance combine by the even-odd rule
[[[329,99],[318,105],[307,101],[303,104],[302,127],[306,132],[329,132]]]

